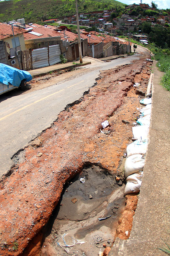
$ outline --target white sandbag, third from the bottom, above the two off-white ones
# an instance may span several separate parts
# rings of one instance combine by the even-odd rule
[[[127,157],[136,155],[136,154],[141,154],[141,155],[145,154],[147,152],[147,145],[148,145],[148,139],[135,140],[134,142],[132,142],[126,147]]]

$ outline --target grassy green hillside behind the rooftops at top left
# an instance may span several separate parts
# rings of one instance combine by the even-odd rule
[[[125,4],[115,0],[79,1],[79,12],[103,11],[123,8]],[[74,0],[10,0],[0,2],[0,22],[25,18],[28,22],[61,18],[75,14]]]

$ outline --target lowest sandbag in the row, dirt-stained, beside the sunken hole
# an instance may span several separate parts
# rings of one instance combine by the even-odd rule
[[[143,172],[137,172],[127,177],[126,186],[124,189],[124,195],[130,193],[138,193],[140,191],[140,186],[142,183]]]

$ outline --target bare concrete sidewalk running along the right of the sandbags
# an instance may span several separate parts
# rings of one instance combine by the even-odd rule
[[[170,92],[153,63],[152,113],[141,191],[128,240],[116,238],[109,256],[164,256],[170,246]],[[163,241],[163,240],[164,241]]]

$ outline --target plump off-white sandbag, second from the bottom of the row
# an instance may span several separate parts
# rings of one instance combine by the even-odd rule
[[[125,178],[129,175],[143,171],[143,167],[145,165],[145,158],[140,154],[132,155],[126,158],[124,163],[124,176]]]

